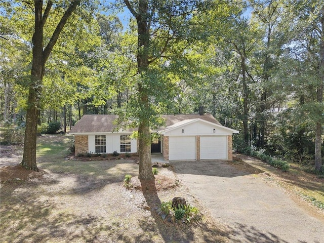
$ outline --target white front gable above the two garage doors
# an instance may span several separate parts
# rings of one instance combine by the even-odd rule
[[[238,131],[197,118],[181,121],[158,133],[167,136],[232,135]]]

